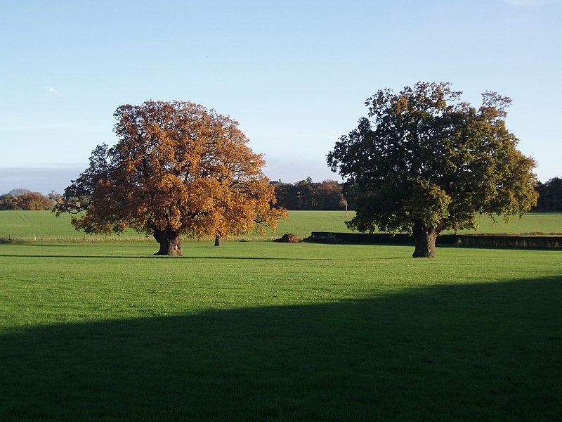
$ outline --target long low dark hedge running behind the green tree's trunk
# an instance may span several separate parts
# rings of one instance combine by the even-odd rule
[[[384,243],[414,244],[412,236],[388,233],[336,233],[332,231],[313,231],[308,242],[318,243]],[[562,248],[561,236],[495,236],[478,234],[443,234],[438,236],[438,245],[487,246],[491,248]]]

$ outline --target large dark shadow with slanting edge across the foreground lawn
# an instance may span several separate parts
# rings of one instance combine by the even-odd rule
[[[558,420],[562,282],[0,335],[2,420]]]

